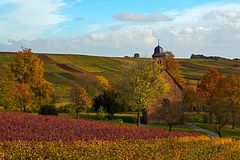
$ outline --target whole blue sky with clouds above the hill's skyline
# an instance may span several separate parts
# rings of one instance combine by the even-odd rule
[[[240,0],[0,0],[0,51],[240,57]]]

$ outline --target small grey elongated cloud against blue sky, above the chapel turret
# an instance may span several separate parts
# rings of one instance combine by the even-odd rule
[[[130,13],[130,12],[123,12],[118,13],[113,16],[115,20],[119,21],[128,21],[128,22],[141,22],[141,23],[149,23],[149,22],[161,22],[161,21],[170,21],[171,19],[167,16],[154,13],[150,15],[144,15],[140,13]]]

